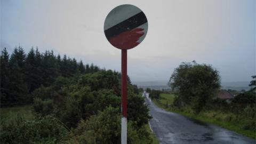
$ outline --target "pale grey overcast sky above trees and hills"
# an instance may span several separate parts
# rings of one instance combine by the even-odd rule
[[[132,81],[167,81],[193,60],[218,69],[222,82],[251,81],[256,73],[255,0],[0,1],[1,50],[34,46],[120,71],[121,50],[107,41],[103,25],[114,7],[132,4],[148,19],[146,38],[128,51]]]

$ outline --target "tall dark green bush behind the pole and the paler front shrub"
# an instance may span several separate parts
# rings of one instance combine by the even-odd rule
[[[102,78],[103,76],[106,77]],[[48,114],[59,118],[68,127],[76,127],[81,118],[88,119],[91,115],[97,114],[98,111],[102,111],[110,105],[120,109],[121,94],[119,87],[121,85],[117,74],[113,71],[102,70],[97,73],[82,75],[77,79],[77,83],[66,83],[62,87],[57,86],[60,89],[58,90],[53,88],[54,85],[59,81],[69,81],[66,78],[58,78],[52,86],[40,87],[35,90],[34,97],[52,98],[53,109],[51,114]],[[34,105],[37,105],[34,106],[35,111],[42,113],[41,115],[46,114],[43,108],[39,108],[39,106],[43,107],[43,103],[44,101],[35,99]],[[148,123],[150,118],[148,108],[144,105],[144,99],[134,94],[134,86],[131,84],[128,86],[127,107],[128,118],[134,121],[138,127]]]

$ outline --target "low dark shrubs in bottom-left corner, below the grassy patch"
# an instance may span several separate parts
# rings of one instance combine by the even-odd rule
[[[1,143],[57,143],[67,130],[53,117],[1,125]]]

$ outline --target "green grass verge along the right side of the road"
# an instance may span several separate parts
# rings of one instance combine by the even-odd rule
[[[246,127],[250,124],[247,123],[247,119],[244,117],[239,122],[236,121],[236,116],[231,113],[223,113],[221,111],[202,111],[198,115],[193,114],[193,111],[189,107],[177,109],[172,106],[174,94],[161,94],[159,100],[153,99],[156,106],[165,109],[166,111],[172,111],[199,121],[215,124],[225,129],[234,131],[236,133],[245,135],[256,139],[256,133],[252,130],[246,130]],[[166,107],[166,102],[168,106]],[[255,123],[255,121],[254,121]]]

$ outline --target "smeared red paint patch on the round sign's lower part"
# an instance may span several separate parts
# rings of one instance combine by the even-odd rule
[[[132,49],[133,47],[137,46],[137,41],[141,36],[144,35],[143,28],[135,28],[129,31],[125,31],[115,37],[109,39],[109,42],[118,47],[119,49]]]

